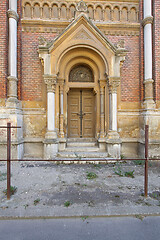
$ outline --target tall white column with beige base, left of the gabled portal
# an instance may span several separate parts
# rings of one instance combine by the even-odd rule
[[[8,101],[18,103],[17,100],[17,0],[9,0],[9,47],[8,47]]]

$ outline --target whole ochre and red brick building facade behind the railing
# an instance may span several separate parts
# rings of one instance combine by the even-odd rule
[[[95,156],[143,157],[146,124],[149,155],[160,156],[158,0],[0,8],[0,125],[21,126],[12,129],[13,158],[77,156],[91,143]]]

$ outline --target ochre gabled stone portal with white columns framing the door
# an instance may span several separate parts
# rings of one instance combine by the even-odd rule
[[[85,95],[90,96],[92,107],[94,105],[92,137],[104,151],[111,152],[114,146],[120,149],[117,87],[125,54],[124,48],[108,41],[84,14],[79,15],[54,41],[43,41],[39,46],[39,57],[44,61],[44,81],[48,91],[45,153],[51,151],[53,155],[53,148],[55,154],[58,149],[65,149],[67,138],[74,135],[70,127],[71,99],[76,96],[80,103],[85,101]],[[81,114],[83,102],[81,104],[77,106],[76,114]],[[83,135],[84,126],[78,128],[77,137],[83,138],[86,134]],[[48,153],[46,157],[50,157]],[[119,156],[120,150],[116,154]]]

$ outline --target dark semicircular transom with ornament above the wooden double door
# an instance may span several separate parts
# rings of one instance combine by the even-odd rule
[[[93,73],[87,66],[76,66],[70,71],[69,82],[94,82]]]

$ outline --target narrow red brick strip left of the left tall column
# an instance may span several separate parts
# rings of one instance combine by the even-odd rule
[[[7,79],[7,42],[8,42],[8,28],[7,28],[7,1],[1,0],[1,14],[0,14],[0,98],[6,98],[6,79]]]

